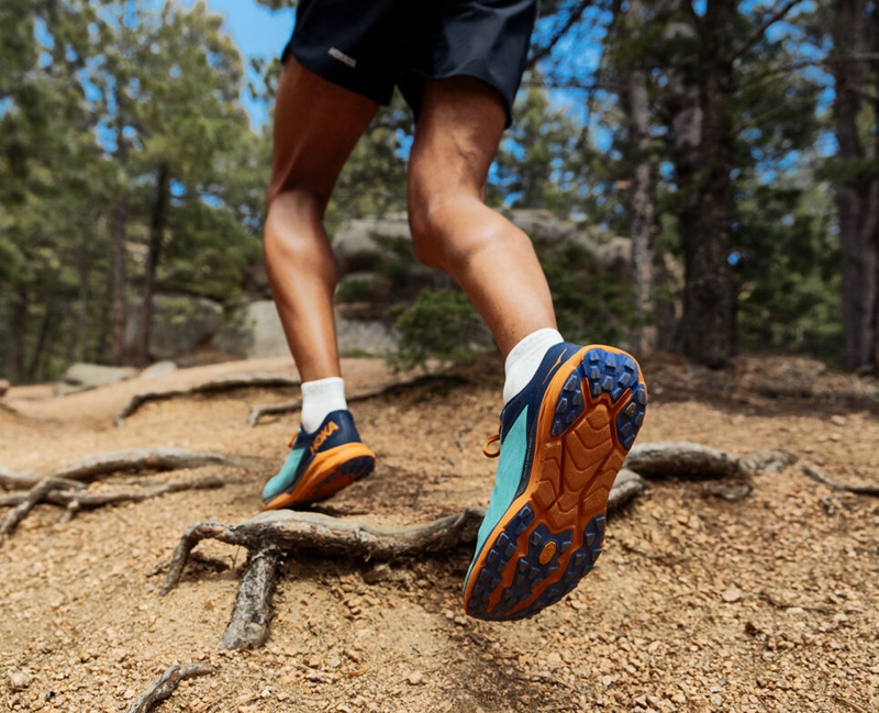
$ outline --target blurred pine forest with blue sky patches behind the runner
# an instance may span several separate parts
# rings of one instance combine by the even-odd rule
[[[245,100],[270,107],[278,71],[202,2],[0,3],[0,376],[144,365],[155,294],[264,291],[271,129]],[[631,241],[622,277],[576,242],[542,250],[567,338],[879,367],[876,2],[544,0],[516,103],[489,202]],[[404,209],[411,135],[397,97],[331,234]],[[394,302],[419,338],[472,320],[454,286]]]

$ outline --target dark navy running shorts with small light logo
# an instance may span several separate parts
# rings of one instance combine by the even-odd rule
[[[538,0],[300,0],[292,54],[307,69],[380,104],[394,85],[418,120],[425,79],[468,76],[497,89],[507,123]]]

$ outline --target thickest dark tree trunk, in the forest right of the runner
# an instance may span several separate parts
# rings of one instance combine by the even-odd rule
[[[710,0],[698,38],[689,23],[669,25],[677,34],[671,42],[680,44],[670,83],[686,280],[681,336],[686,354],[712,368],[726,366],[735,346],[728,263],[735,13],[732,0]]]

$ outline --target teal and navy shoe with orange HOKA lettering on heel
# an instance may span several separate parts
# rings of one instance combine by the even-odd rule
[[[263,489],[263,510],[297,508],[324,500],[366,478],[376,456],[361,442],[349,411],[333,411],[314,433],[300,426],[290,455]]]

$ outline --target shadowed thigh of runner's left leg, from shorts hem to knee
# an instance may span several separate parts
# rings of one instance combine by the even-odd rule
[[[275,144],[267,201],[304,190],[325,209],[338,174],[369,126],[375,100],[340,87],[289,58],[275,102]]]

